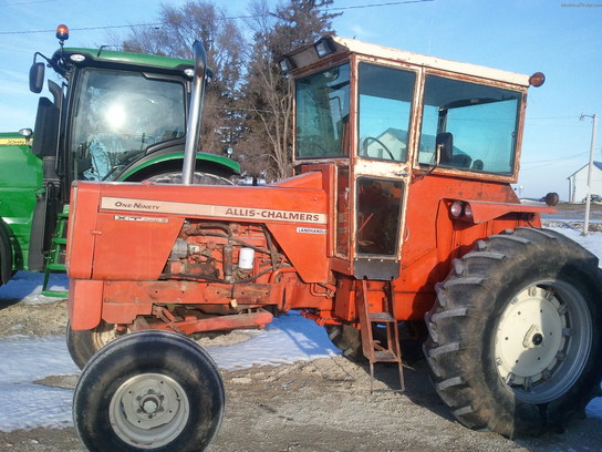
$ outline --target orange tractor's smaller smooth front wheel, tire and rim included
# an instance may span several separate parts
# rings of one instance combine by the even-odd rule
[[[197,343],[139,331],[90,360],[75,388],[73,420],[92,452],[204,451],[224,403],[219,371]]]

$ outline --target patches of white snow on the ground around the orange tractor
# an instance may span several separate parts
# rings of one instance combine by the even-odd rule
[[[602,261],[602,233],[582,236],[581,232],[557,228],[583,245]],[[42,275],[20,271],[0,288],[2,300],[48,302],[41,294]],[[53,275],[51,289],[66,290],[64,275]],[[299,314],[274,319],[262,331],[250,331],[251,339],[232,346],[209,347],[220,369],[233,370],[252,366],[279,366],[338,353],[323,328]],[[72,425],[71,389],[51,388],[35,383],[49,376],[79,374],[62,336],[10,336],[0,339],[0,431],[17,429],[61,428]],[[588,417],[602,419],[602,398],[587,409]]]

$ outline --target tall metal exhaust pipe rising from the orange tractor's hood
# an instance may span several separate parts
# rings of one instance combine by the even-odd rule
[[[199,41],[193,44],[195,52],[195,75],[193,80],[193,93],[190,94],[190,109],[188,111],[188,124],[186,132],[186,147],[184,150],[184,165],[181,168],[181,183],[191,185],[195,175],[195,162],[200,136],[200,121],[203,119],[203,99],[205,97],[205,81],[207,78],[207,53]]]

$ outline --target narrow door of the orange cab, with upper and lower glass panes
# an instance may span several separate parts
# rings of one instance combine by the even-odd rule
[[[417,73],[360,61],[351,243],[355,278],[399,275]]]

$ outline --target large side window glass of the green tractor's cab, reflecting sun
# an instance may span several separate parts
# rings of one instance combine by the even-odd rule
[[[79,86],[72,129],[75,178],[114,181],[148,146],[185,134],[181,83],[86,70]]]

